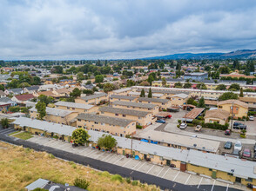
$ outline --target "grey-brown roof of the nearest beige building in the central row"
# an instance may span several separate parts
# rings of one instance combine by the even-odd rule
[[[77,115],[77,119],[91,121],[91,122],[101,122],[101,123],[117,125],[117,126],[121,126],[121,127],[126,127],[131,122],[135,122],[135,121],[131,121],[131,120],[120,119],[117,117],[94,115],[94,114],[84,114],[84,113]]]

